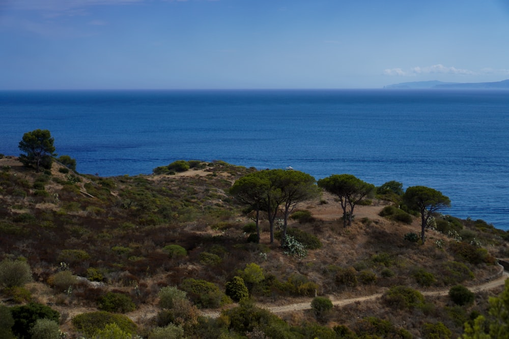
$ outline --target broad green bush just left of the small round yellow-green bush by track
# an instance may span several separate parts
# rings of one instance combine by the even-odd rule
[[[215,309],[231,302],[230,298],[221,292],[215,284],[206,280],[185,279],[180,285],[180,289],[187,292],[189,299],[202,309]]]

